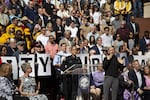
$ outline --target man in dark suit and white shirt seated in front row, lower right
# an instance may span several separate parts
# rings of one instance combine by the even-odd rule
[[[132,66],[133,69],[129,71],[128,77],[131,81],[134,82],[134,91],[136,91],[140,95],[139,98],[145,100],[144,96],[146,95],[146,91],[144,90],[144,87],[146,86],[146,83],[145,83],[144,74],[141,71],[139,61],[134,60],[132,62]]]

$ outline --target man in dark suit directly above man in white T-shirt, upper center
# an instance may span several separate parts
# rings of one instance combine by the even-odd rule
[[[71,16],[66,19],[66,25],[67,25],[67,26],[69,26],[72,21],[75,22],[76,27],[79,27],[79,26],[80,26],[80,22],[79,22],[78,18],[75,17],[75,15],[76,15],[76,11],[75,11],[75,10],[72,10],[72,11],[71,11]]]

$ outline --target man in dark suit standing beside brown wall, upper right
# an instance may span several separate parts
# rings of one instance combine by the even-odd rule
[[[135,38],[135,45],[139,43],[139,33],[140,33],[140,27],[139,24],[135,22],[135,17],[130,17],[130,23],[128,24],[130,32],[134,34]]]

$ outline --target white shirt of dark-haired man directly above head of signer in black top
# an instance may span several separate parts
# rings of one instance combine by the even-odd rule
[[[113,37],[112,35],[106,35],[105,33],[101,35],[102,38],[102,45],[104,47],[110,47],[113,43]]]

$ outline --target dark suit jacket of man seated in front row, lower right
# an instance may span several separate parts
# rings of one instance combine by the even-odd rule
[[[140,89],[143,89],[146,86],[145,83],[145,78],[144,78],[144,73],[140,70],[141,73],[141,77],[142,77],[142,86]],[[135,91],[137,91],[137,89],[139,88],[139,83],[138,83],[138,78],[136,76],[136,73],[134,70],[130,70],[128,73],[128,77],[130,80],[132,80],[134,82],[134,89]]]

